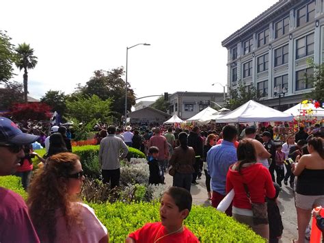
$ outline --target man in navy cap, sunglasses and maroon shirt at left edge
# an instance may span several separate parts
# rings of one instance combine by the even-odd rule
[[[12,175],[25,157],[23,146],[38,136],[23,133],[12,120],[0,117],[0,176]],[[0,187],[0,242],[40,242],[25,201]]]

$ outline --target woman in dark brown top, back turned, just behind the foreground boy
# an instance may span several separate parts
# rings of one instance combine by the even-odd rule
[[[181,132],[178,135],[180,146],[174,149],[169,165],[174,166],[176,173],[173,177],[173,186],[185,188],[190,192],[193,164],[195,163],[195,151],[188,146],[188,134]]]

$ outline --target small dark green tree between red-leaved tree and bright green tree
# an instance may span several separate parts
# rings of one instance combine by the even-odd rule
[[[46,103],[52,107],[52,112],[57,112],[61,116],[66,112],[66,99],[67,96],[62,91],[58,90],[49,90],[46,94],[40,99],[40,102]]]

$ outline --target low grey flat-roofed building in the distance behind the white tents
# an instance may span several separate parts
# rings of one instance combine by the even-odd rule
[[[169,94],[169,114],[186,120],[206,107],[222,107],[226,94],[218,92],[175,92]]]

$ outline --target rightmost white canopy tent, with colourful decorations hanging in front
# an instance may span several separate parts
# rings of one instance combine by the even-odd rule
[[[312,112],[310,112],[312,110]],[[295,116],[296,118],[304,117],[323,117],[324,118],[324,109],[321,107],[315,108],[313,103],[302,104],[299,103],[288,110],[285,110],[284,113]]]

